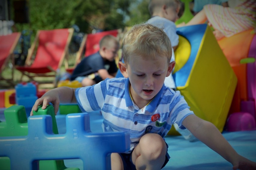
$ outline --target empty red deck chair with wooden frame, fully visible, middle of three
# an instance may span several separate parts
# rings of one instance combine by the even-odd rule
[[[39,30],[29,49],[25,66],[16,66],[16,69],[32,80],[35,77],[56,76],[68,53],[73,32],[73,28]],[[34,52],[36,54],[33,58]],[[67,63],[65,66],[68,66]]]

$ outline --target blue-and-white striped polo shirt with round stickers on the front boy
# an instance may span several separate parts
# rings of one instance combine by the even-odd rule
[[[173,123],[184,129],[182,121],[194,114],[179,91],[164,85],[147,106],[139,109],[130,97],[129,86],[129,78],[106,79],[76,89],[75,97],[82,112],[101,111],[103,131],[130,133],[130,151],[145,133],[164,137]]]

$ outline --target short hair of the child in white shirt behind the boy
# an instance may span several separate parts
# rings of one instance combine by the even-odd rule
[[[166,5],[167,7],[173,7],[174,10],[180,7],[181,2],[179,0],[151,0],[148,4],[148,11],[150,15],[160,8]]]

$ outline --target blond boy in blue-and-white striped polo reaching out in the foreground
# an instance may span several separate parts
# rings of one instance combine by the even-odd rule
[[[256,163],[237,154],[219,130],[194,115],[180,92],[164,85],[175,65],[170,62],[171,43],[163,30],[135,25],[123,42],[124,63],[118,66],[124,78],[106,79],[93,86],[59,87],[39,98],[33,110],[54,103],[78,103],[83,112],[100,110],[103,131],[130,133],[130,151],[111,154],[111,169],[161,169],[169,160],[164,136],[173,123],[189,129],[227,161],[233,169],[255,169]],[[32,115],[32,112],[31,112]]]

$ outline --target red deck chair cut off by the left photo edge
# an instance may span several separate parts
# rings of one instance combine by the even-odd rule
[[[11,62],[13,63],[13,57],[11,57],[11,55],[13,55],[14,48],[20,39],[20,35],[19,32],[15,32],[9,35],[0,36],[0,80],[4,80],[11,85],[15,85],[13,82],[13,69],[11,71],[11,78],[4,78],[2,71],[5,69],[5,66],[10,59],[12,59]]]

